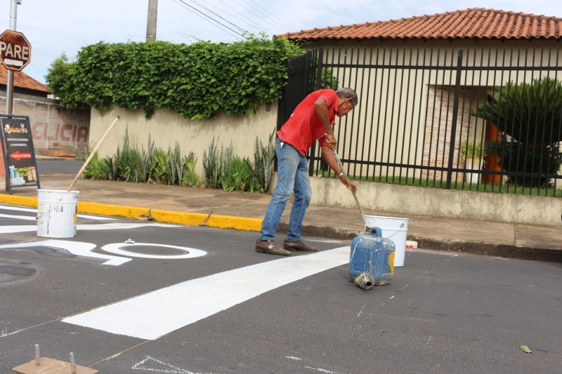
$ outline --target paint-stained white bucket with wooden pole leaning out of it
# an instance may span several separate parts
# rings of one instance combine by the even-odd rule
[[[38,189],[37,192],[37,236],[76,236],[79,192],[58,189]]]

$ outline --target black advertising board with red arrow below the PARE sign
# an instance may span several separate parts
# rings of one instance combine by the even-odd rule
[[[6,168],[6,191],[14,187],[37,186],[39,173],[33,147],[29,116],[0,115],[0,142]],[[9,182],[8,182],[9,181]]]

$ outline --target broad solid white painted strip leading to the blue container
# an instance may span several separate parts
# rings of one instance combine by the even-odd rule
[[[63,319],[154,340],[288,283],[349,262],[349,246],[192,279]]]

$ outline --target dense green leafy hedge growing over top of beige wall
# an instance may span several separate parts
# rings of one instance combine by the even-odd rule
[[[100,42],[82,48],[76,61],[61,55],[46,81],[67,108],[85,105],[104,112],[117,105],[143,108],[147,117],[166,108],[189,119],[221,111],[240,116],[281,98],[286,62],[302,53],[285,39],[190,45]]]

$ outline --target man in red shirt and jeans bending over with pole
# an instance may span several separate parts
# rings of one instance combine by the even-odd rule
[[[351,88],[314,91],[296,106],[289,120],[277,131],[275,154],[277,155],[277,186],[271,196],[263,224],[256,241],[256,251],[272,255],[290,255],[290,251],[316,251],[313,246],[301,240],[302,222],[312,190],[308,180],[306,152],[312,142],[318,140],[322,157],[332,170],[339,175],[344,185],[357,191],[353,182],[343,178],[332,152],[337,147],[332,131],[336,116],[345,116],[357,105],[357,94]],[[275,241],[275,233],[287,200],[294,192],[294,201],[283,248]]]

